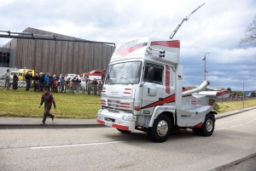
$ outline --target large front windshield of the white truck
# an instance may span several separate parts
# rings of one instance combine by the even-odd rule
[[[107,84],[136,84],[140,82],[142,61],[124,62],[108,66],[105,83]]]

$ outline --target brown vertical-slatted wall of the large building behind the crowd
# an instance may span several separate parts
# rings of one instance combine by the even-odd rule
[[[24,32],[40,35],[55,35],[58,38],[73,39],[49,31],[26,28]],[[15,40],[13,40],[15,41]],[[17,68],[29,68],[35,71],[61,73],[75,73],[107,69],[114,47],[101,43],[73,43],[47,40],[16,40]],[[12,42],[12,41],[11,41]]]

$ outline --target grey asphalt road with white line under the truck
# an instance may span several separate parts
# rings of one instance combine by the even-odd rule
[[[108,127],[0,129],[0,134],[1,170],[220,170],[256,153],[256,109],[219,118],[211,137],[177,131],[159,144],[143,132],[121,134]],[[250,160],[255,157],[248,166]]]

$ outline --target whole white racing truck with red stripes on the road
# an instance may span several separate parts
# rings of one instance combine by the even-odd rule
[[[210,136],[216,98],[229,91],[183,89],[183,66],[178,40],[144,37],[115,48],[102,88],[97,122],[121,133],[142,130],[151,140],[163,142],[171,131],[191,128]]]

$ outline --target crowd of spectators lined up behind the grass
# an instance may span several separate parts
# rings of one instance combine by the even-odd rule
[[[9,70],[6,73],[6,82],[5,88],[9,89]],[[19,78],[17,74],[13,77],[13,89],[16,90],[18,88]],[[96,78],[94,80],[90,80],[87,77],[67,77],[65,74],[61,74],[60,76],[49,74],[49,72],[36,72],[34,76],[32,73],[26,72],[25,75],[26,81],[26,91],[29,91],[30,88],[33,88],[34,92],[44,92],[44,88],[48,88],[49,91],[53,93],[67,93],[67,89],[71,94],[79,94],[79,91],[82,94],[85,92],[92,90],[95,92],[95,88],[102,88],[102,80],[98,82]],[[93,93],[95,94],[95,93]]]

